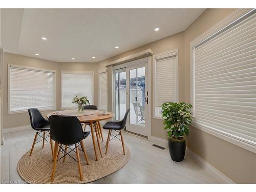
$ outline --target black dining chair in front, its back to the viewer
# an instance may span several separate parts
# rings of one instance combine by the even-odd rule
[[[86,158],[86,162],[89,164],[86,150],[83,145],[83,139],[87,138],[90,132],[83,132],[81,123],[75,116],[51,115],[49,117],[49,121],[51,139],[55,141],[51,181],[54,180],[57,161],[61,158],[63,158],[63,161],[65,161],[66,155],[69,155],[71,152],[76,153],[77,160],[75,160],[72,156],[69,156],[77,161],[80,180],[82,181],[82,170],[78,146],[81,146],[83,155]],[[63,145],[65,145],[65,149],[62,148]],[[75,151],[71,145],[75,145]],[[67,152],[68,148],[70,150],[69,152]],[[64,155],[59,158],[60,151],[64,152]]]

